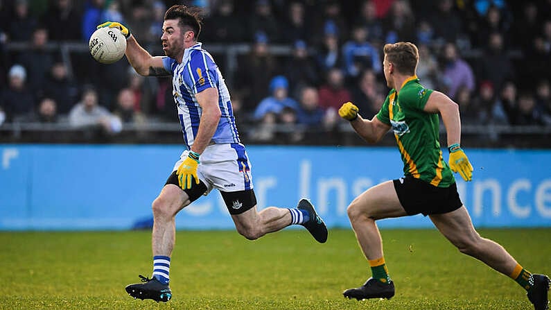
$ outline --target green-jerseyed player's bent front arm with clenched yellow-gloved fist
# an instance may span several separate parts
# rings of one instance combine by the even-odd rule
[[[369,143],[377,143],[390,130],[390,126],[379,121],[377,117],[363,119],[358,113],[359,109],[351,102],[344,103],[339,109],[339,115],[343,119],[350,121],[352,128],[358,135]]]

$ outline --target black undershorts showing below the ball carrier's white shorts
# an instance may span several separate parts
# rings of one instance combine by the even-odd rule
[[[174,184],[180,187],[176,171],[170,174],[168,180],[166,180],[166,184]],[[193,201],[198,200],[207,191],[207,185],[203,181],[199,181],[199,184],[191,182],[191,189],[184,189],[184,191],[188,194],[189,201],[193,203]],[[245,189],[244,191],[220,191],[220,194],[226,203],[229,214],[242,214],[256,205],[256,196],[252,189]]]

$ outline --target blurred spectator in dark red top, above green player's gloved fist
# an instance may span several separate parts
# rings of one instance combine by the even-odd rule
[[[327,72],[326,84],[320,87],[320,106],[325,110],[339,110],[342,103],[352,100],[348,89],[344,87],[342,70],[333,68]]]

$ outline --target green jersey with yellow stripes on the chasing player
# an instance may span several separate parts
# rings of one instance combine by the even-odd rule
[[[440,150],[438,114],[423,111],[430,94],[432,89],[412,76],[404,81],[400,92],[390,90],[377,119],[392,126],[405,175],[449,187],[455,179]]]

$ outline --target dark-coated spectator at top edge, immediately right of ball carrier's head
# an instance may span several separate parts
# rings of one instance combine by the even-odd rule
[[[236,22],[240,16],[234,10],[234,0],[221,0],[213,13],[204,19],[203,40],[217,43],[246,42],[249,37],[243,23]],[[162,26],[162,24],[161,24]]]

